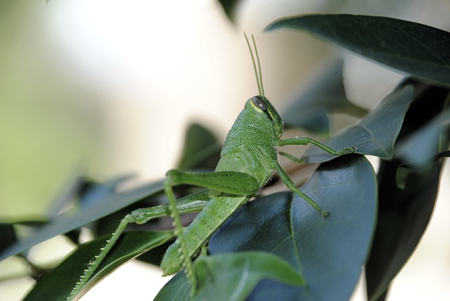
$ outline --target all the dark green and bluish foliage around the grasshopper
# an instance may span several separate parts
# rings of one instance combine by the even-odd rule
[[[236,5],[236,1],[228,2]],[[210,300],[211,295],[228,300],[231,294],[236,294],[233,300],[347,300],[363,266],[368,299],[383,300],[430,220],[442,157],[448,154],[450,33],[364,15],[296,16],[275,21],[267,30],[286,28],[306,31],[409,77],[357,124],[325,143],[336,149],[354,146],[355,154],[330,158],[316,148],[306,153],[307,162],[320,165],[302,191],[330,211],[330,217],[322,219],[290,192],[258,197],[243,205],[214,233],[209,254],[195,261],[200,286],[195,300]],[[283,116],[288,124],[323,133],[328,132],[326,114],[334,108],[363,111],[347,101],[342,89],[334,89],[342,86],[340,68],[333,67],[321,79],[321,89],[313,87],[298,98]],[[304,108],[311,108],[308,122],[304,122]],[[321,122],[316,127],[317,120]],[[212,169],[220,151],[217,139],[198,125],[190,128],[188,136],[179,166]],[[376,174],[364,155],[380,158]],[[134,208],[165,202],[160,182],[117,193],[115,187],[123,180],[87,185],[85,179],[76,179],[75,193],[60,203],[76,199],[78,212],[50,221],[2,224],[0,231],[7,239],[1,242],[0,259],[20,256],[26,260],[27,249],[61,234],[78,243],[75,230],[82,226],[89,226],[98,236],[79,245],[58,267],[39,278],[27,300],[67,296],[84,263],[103,245],[104,224],[116,222]],[[189,186],[176,189],[180,196],[191,191]],[[14,229],[24,223],[36,231],[31,238],[17,241]],[[40,226],[42,223],[45,225]],[[158,222],[149,223],[147,231],[129,230],[85,290],[139,255],[143,255],[140,260],[159,264],[165,243],[174,237],[172,231],[161,231]],[[37,267],[31,263],[30,269],[36,274]],[[238,281],[242,274],[250,276]],[[157,299],[188,300],[183,271],[162,288]]]

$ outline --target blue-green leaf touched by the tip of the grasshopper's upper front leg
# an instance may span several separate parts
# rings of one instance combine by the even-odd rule
[[[396,89],[358,124],[326,141],[326,146],[337,151],[353,146],[356,153],[391,160],[394,156],[394,143],[413,98],[412,85]],[[307,162],[314,163],[334,158],[333,155],[316,147],[309,148],[304,157],[307,158]]]

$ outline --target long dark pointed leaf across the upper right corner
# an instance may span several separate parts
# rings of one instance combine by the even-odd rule
[[[305,30],[388,67],[450,86],[450,32],[368,15],[303,15],[277,20],[266,30]]]

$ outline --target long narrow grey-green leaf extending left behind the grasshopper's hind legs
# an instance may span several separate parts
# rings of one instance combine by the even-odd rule
[[[127,205],[141,200],[146,196],[150,196],[154,193],[161,191],[161,184],[148,184],[139,188],[134,188],[122,193],[113,193],[103,198],[101,202],[97,202],[89,207],[83,207],[82,210],[76,214],[61,214],[58,215],[50,224],[43,226],[41,229],[33,233],[30,238],[26,238],[23,241],[11,246],[6,251],[0,254],[0,260],[6,257],[15,255],[19,252],[23,252],[33,245],[37,245],[49,238],[58,236],[62,233],[66,233],[73,229],[77,229],[80,226],[84,226],[89,222],[93,222],[96,219],[105,217],[111,212],[120,210]]]

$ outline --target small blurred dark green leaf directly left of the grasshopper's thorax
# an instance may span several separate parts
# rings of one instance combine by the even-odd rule
[[[214,169],[219,161],[220,151],[221,145],[214,134],[200,124],[193,123],[186,132],[177,169]]]

